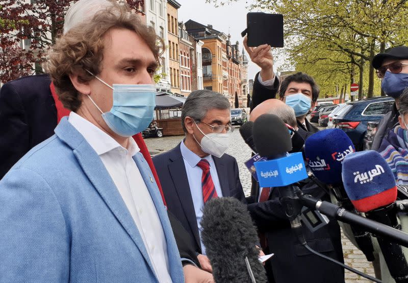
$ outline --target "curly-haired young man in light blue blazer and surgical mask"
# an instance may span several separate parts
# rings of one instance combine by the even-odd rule
[[[162,50],[116,4],[57,41],[47,71],[71,113],[0,181],[1,281],[184,281],[162,197],[131,137],[152,119]]]

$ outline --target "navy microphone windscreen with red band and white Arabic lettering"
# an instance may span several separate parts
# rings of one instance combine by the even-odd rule
[[[347,196],[360,212],[366,213],[397,199],[394,174],[387,161],[376,151],[347,155],[342,175]]]

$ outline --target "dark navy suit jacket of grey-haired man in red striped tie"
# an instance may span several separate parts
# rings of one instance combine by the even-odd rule
[[[246,203],[239,179],[237,160],[228,154],[224,154],[221,158],[213,156],[213,159],[217,168],[222,196],[235,197]],[[193,245],[196,251],[201,253],[194,204],[180,144],[166,153],[153,157],[153,162],[163,187],[167,209],[180,220],[184,228],[190,233],[191,239],[194,239]]]

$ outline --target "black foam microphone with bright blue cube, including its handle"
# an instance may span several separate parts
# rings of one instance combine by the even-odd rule
[[[273,186],[279,191],[282,206],[299,242],[304,243],[301,230],[300,214],[302,205],[296,199],[294,186],[308,177],[304,168],[301,153],[288,155],[292,150],[292,141],[285,123],[273,114],[263,114],[253,123],[253,142],[259,155],[267,157],[266,161],[254,163],[260,186]],[[285,170],[286,168],[286,170]]]

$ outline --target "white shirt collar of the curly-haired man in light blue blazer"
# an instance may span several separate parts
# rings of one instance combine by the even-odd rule
[[[125,149],[109,134],[73,111],[69,114],[68,121],[84,136],[85,140],[98,155],[102,155],[116,148]],[[132,137],[129,138],[129,143],[125,150],[127,154],[131,156],[134,156],[140,151],[136,141]]]

